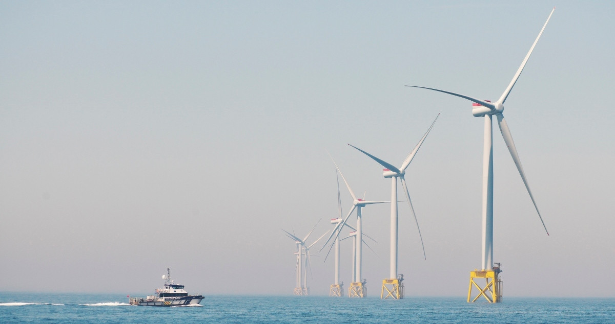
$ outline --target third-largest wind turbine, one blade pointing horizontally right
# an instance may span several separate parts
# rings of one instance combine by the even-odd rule
[[[344,180],[344,183],[346,183],[346,188],[348,188],[348,192],[350,193],[350,195],[352,197],[352,209],[348,213],[348,215],[352,214],[352,211],[354,209],[357,209],[357,229],[355,230],[355,239],[354,239],[354,245],[355,245],[354,255],[355,255],[355,260],[353,260],[354,261],[354,266],[355,266],[355,271],[353,271],[352,283],[351,283],[351,287],[349,288],[349,290],[354,290],[354,293],[349,293],[349,295],[363,297],[365,294],[363,293],[363,288],[364,287],[362,285],[363,281],[362,281],[362,273],[361,273],[361,270],[362,270],[362,245],[363,245],[362,209],[363,209],[363,207],[365,207],[367,205],[390,203],[390,201],[365,201],[365,200],[363,200],[361,198],[357,198],[357,196],[354,195],[354,192],[350,188],[350,185],[346,181],[346,178],[344,177],[344,174],[339,169],[338,164],[335,163],[335,160],[333,160],[333,158],[331,158],[331,161],[333,161],[333,164],[335,164],[335,168],[338,170],[339,175],[342,176],[342,180]],[[339,187],[338,187],[338,189],[339,189]],[[346,219],[344,219],[344,222],[342,223],[341,226],[343,226],[346,223],[347,219],[348,219],[348,217],[346,217]],[[341,230],[341,226],[339,227],[339,230]],[[339,233],[338,233],[338,236],[336,237],[336,239],[339,239]]]

